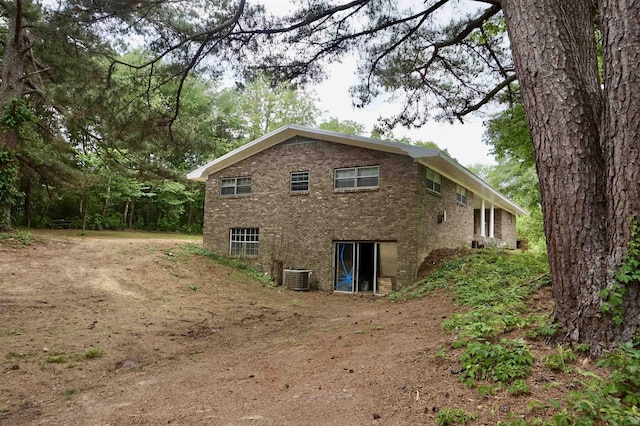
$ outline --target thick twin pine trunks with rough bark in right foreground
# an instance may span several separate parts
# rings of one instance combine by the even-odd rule
[[[604,0],[603,11],[617,7],[621,15],[604,16],[601,23],[610,40],[603,46],[603,90],[592,0],[503,1],[536,153],[554,315],[570,340],[588,343],[594,353],[628,340],[638,323],[637,289],[627,298],[622,327],[601,313],[600,297],[614,283],[630,216],[638,211],[639,62],[636,57],[621,70],[617,63],[624,68],[630,58],[611,56],[639,52],[640,2],[631,3]],[[620,16],[625,18],[618,21]]]

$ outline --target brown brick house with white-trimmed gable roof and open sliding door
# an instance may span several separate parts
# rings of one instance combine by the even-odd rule
[[[187,177],[207,185],[207,249],[325,291],[399,289],[436,248],[515,248],[526,214],[439,151],[297,125]]]

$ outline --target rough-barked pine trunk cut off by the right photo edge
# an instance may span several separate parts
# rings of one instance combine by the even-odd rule
[[[640,3],[602,0],[604,128],[607,159],[609,269],[622,262],[631,218],[640,213]],[[623,325],[616,338],[631,340],[640,318],[640,283],[625,285]]]

